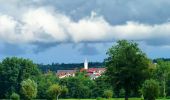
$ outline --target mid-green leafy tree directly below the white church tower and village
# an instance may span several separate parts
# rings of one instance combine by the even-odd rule
[[[71,91],[67,94],[68,98],[89,98],[92,94],[94,81],[89,77],[78,74],[75,77],[63,78],[60,84],[67,86]]]

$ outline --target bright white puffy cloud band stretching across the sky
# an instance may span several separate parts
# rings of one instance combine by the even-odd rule
[[[47,8],[32,8],[15,20],[0,15],[0,39],[10,43],[103,42],[118,39],[170,42],[170,23],[142,24],[128,21],[111,25],[102,16],[92,13],[79,21]],[[166,43],[165,43],[166,44]]]

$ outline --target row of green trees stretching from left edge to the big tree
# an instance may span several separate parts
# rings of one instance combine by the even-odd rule
[[[0,63],[0,98],[30,100],[62,98],[96,98],[111,89],[106,78],[95,81],[86,73],[77,72],[76,77],[59,79],[55,72],[42,73],[29,59],[5,58]]]

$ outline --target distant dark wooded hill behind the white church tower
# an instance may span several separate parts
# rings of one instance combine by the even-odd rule
[[[84,67],[84,63],[52,63],[52,64],[37,64],[38,67],[43,71],[47,72],[50,71],[57,71],[57,70],[71,70],[71,69],[80,69]],[[95,67],[95,68],[102,68],[104,67],[104,63],[102,62],[89,62],[89,68]]]

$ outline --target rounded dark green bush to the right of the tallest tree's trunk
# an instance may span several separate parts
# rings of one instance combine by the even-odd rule
[[[142,87],[142,93],[145,100],[155,100],[159,96],[159,84],[157,81],[146,80]]]

